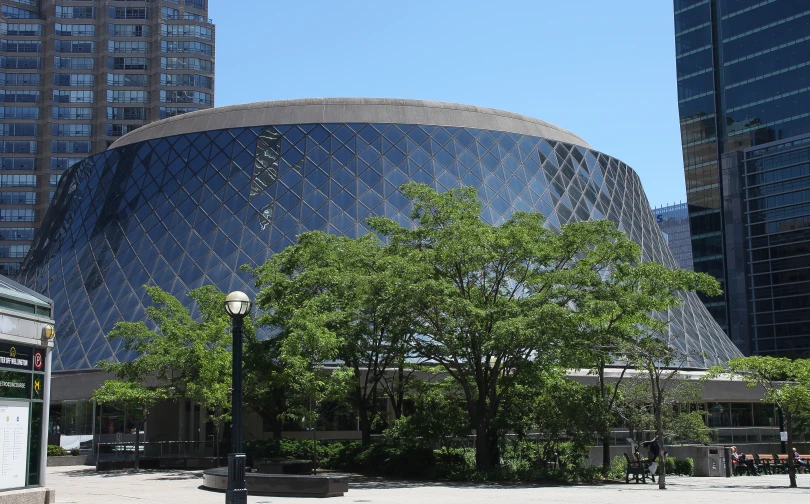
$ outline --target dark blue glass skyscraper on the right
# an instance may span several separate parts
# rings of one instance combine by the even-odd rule
[[[675,0],[696,271],[746,353],[810,351],[810,2]]]

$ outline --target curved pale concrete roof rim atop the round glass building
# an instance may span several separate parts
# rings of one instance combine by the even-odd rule
[[[313,123],[422,124],[504,131],[589,148],[585,140],[554,124],[512,112],[457,103],[388,98],[307,98],[181,114],[141,126],[110,148],[186,133],[228,128]]]

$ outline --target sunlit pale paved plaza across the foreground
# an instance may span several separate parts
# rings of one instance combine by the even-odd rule
[[[480,485],[420,483],[357,478],[343,497],[330,504],[478,504],[540,503],[582,504],[628,502],[734,503],[776,502],[781,499],[805,502],[810,498],[810,475],[798,476],[800,488],[788,488],[786,475],[739,478],[668,478],[668,490],[657,485],[605,484],[577,486]],[[225,495],[200,488],[199,471],[113,471],[96,473],[90,467],[49,467],[48,487],[56,490],[58,504],[159,503],[222,504]],[[802,497],[804,496],[804,497]],[[654,501],[653,501],[654,499]],[[776,499],[776,500],[774,500]],[[320,502],[324,499],[250,497],[251,504]]]

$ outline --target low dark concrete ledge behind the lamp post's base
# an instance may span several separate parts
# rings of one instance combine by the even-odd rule
[[[349,491],[348,476],[309,476],[301,474],[245,474],[248,494],[272,497],[340,497]],[[228,468],[208,469],[203,486],[228,489]]]

